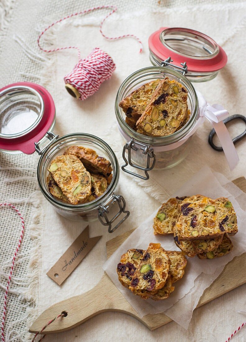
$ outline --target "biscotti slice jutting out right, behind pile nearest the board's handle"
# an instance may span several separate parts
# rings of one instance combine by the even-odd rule
[[[182,254],[182,252],[167,251],[167,254],[170,259],[169,274],[172,282],[176,282],[184,275],[184,269],[187,265],[187,259]]]

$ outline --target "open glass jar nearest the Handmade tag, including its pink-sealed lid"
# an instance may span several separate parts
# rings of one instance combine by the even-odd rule
[[[22,128],[18,128],[17,123],[24,118],[29,121],[27,120]],[[125,200],[117,193],[120,168],[113,150],[106,142],[91,134],[74,133],[59,137],[49,131],[54,127],[55,106],[51,95],[43,87],[20,82],[1,89],[0,120],[0,149],[5,153],[32,154],[35,150],[38,152],[40,159],[37,178],[40,190],[60,215],[82,222],[98,219],[102,225],[108,226],[109,233],[115,231],[127,219],[129,211],[125,210]],[[41,148],[47,139],[50,142]],[[109,160],[112,167],[112,180],[106,191],[95,200],[84,204],[72,205],[53,197],[46,180],[51,161],[72,145],[94,149],[99,156]]]

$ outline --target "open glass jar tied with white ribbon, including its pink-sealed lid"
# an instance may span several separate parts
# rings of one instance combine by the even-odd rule
[[[150,60],[155,66],[137,70],[128,76],[115,99],[115,115],[122,136],[122,156],[125,161],[122,169],[145,180],[149,179],[148,172],[153,168],[174,167],[192,150],[192,139],[198,121],[200,124],[202,120],[191,80],[210,80],[227,62],[225,52],[211,38],[189,29],[161,28],[150,36],[149,49]],[[138,133],[125,122],[125,113],[119,103],[143,84],[165,77],[178,81],[188,90],[190,118],[182,128],[170,135],[154,137]],[[126,169],[128,164],[144,174]]]

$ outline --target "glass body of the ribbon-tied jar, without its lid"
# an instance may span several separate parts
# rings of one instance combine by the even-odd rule
[[[191,113],[190,119],[182,128],[167,136],[152,137],[140,134],[127,125],[125,122],[125,113],[122,108],[119,107],[119,103],[123,98],[140,88],[144,83],[155,79],[164,79],[165,77],[175,79],[188,90],[187,102]],[[140,166],[143,170],[146,166],[147,156],[145,147],[147,146],[148,150],[152,149],[152,154],[155,155],[154,167],[156,169],[171,168],[177,165],[192,150],[192,135],[195,133],[194,128],[199,119],[198,109],[198,99],[194,87],[191,82],[178,71],[169,67],[147,67],[136,71],[122,83],[115,100],[115,114],[122,135],[122,143],[125,145],[125,148],[123,148],[123,158],[125,154],[130,165],[132,162],[133,164]],[[129,149],[130,141],[132,141],[133,145],[131,149]],[[138,143],[142,144],[142,147],[139,148]],[[129,160],[129,152],[131,154],[131,161]]]

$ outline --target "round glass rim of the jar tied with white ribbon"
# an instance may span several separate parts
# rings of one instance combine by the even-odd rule
[[[121,98],[122,92],[126,88],[127,84],[131,83],[132,80],[140,78],[140,76],[144,75],[145,73],[146,73],[146,75],[151,75],[151,74],[158,75],[160,73],[168,73],[174,77],[178,77],[180,80],[182,80],[184,86],[188,89],[188,91],[193,95],[194,109],[193,109],[193,113],[191,113],[189,121],[181,129],[179,129],[178,131],[176,131],[170,135],[161,136],[161,137],[153,137],[153,136],[143,135],[141,133],[136,132],[134,129],[132,129],[125,122],[123,117],[121,116],[119,103],[123,99],[123,98]],[[169,67],[164,67],[164,66],[159,66],[159,67],[150,66],[150,67],[142,68],[142,69],[135,71],[131,75],[129,75],[122,82],[122,84],[121,84],[121,86],[117,92],[116,99],[115,99],[115,114],[116,114],[118,124],[119,124],[120,128],[122,129],[122,131],[126,135],[128,135],[129,137],[132,137],[133,139],[135,139],[136,141],[139,141],[141,143],[144,143],[144,144],[147,144],[150,146],[165,146],[165,145],[173,144],[173,143],[185,138],[186,135],[195,126],[198,113],[199,113],[199,103],[198,103],[196,91],[195,91],[192,83],[185,76],[183,76],[180,72],[173,70]]]

